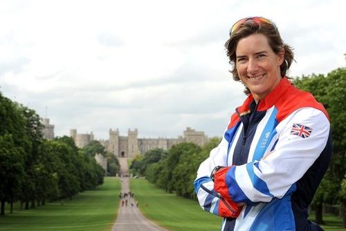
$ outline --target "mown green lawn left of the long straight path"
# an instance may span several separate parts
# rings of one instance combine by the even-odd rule
[[[16,204],[13,214],[7,209],[6,216],[0,216],[0,230],[111,230],[118,213],[120,189],[120,180],[104,178],[103,185],[64,200],[64,205],[57,201],[19,211]]]

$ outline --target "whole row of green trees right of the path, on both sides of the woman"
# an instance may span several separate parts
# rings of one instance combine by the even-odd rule
[[[313,198],[312,209],[316,222],[323,224],[322,205],[336,205],[346,227],[346,68],[336,69],[327,75],[302,76],[293,79],[298,88],[311,92],[329,113],[333,154],[329,169]],[[181,143],[167,151],[154,149],[131,162],[133,174],[145,176],[149,182],[178,196],[197,199],[193,182],[199,164],[206,160],[220,139],[211,139],[203,147]]]

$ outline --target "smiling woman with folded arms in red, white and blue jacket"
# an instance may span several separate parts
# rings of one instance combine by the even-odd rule
[[[293,53],[270,20],[239,20],[226,49],[248,98],[199,166],[201,207],[224,218],[221,230],[322,230],[307,207],[331,157],[325,108],[286,78]]]

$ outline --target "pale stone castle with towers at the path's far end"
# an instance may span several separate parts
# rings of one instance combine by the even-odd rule
[[[71,129],[70,135],[78,148],[83,148],[94,139],[93,132],[91,132],[91,134],[78,134],[76,129]],[[104,146],[106,151],[113,153],[116,157],[134,157],[135,155],[144,155],[144,153],[154,148],[167,150],[173,145],[182,142],[192,142],[202,146],[206,144],[207,141],[208,137],[204,135],[204,132],[199,132],[191,128],[186,128],[183,132],[183,136],[179,136],[175,139],[138,138],[137,129],[129,129],[127,131],[127,136],[120,136],[117,128],[116,130],[109,129],[109,139],[100,140],[100,143]]]

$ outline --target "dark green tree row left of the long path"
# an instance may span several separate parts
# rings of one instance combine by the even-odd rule
[[[34,110],[0,92],[0,201],[20,209],[72,198],[103,183],[104,170],[70,137],[46,140]],[[62,200],[63,201],[63,200]]]

